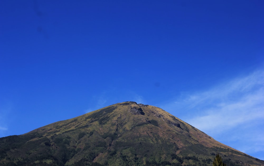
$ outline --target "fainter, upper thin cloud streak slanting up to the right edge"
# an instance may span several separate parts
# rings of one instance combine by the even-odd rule
[[[212,103],[237,101],[240,100],[241,97],[250,95],[252,92],[263,88],[263,84],[264,71],[259,70],[248,76],[226,81],[207,91],[189,95],[183,94],[182,100],[176,101],[175,103],[180,105],[188,103],[187,108],[191,109],[196,108],[197,106],[211,106]]]

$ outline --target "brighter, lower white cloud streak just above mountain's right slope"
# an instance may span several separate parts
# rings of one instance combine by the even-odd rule
[[[222,132],[242,123],[264,119],[263,94],[264,90],[261,88],[254,94],[237,99],[238,101],[222,101],[216,107],[205,110],[205,115],[187,121],[203,131]],[[219,126],[222,128],[219,129]]]

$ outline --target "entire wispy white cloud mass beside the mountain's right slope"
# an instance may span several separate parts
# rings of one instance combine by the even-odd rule
[[[207,90],[182,93],[162,108],[216,140],[223,143],[233,141],[229,146],[237,146],[234,148],[240,151],[264,153],[264,70],[222,82]]]

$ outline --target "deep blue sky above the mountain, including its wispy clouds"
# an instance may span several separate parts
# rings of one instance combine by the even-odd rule
[[[0,137],[158,106],[264,160],[264,2],[0,1]]]

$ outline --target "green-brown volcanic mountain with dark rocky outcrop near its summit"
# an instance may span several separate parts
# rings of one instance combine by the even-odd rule
[[[221,127],[221,126],[219,126]],[[0,138],[0,165],[264,165],[161,108],[117,103]]]

